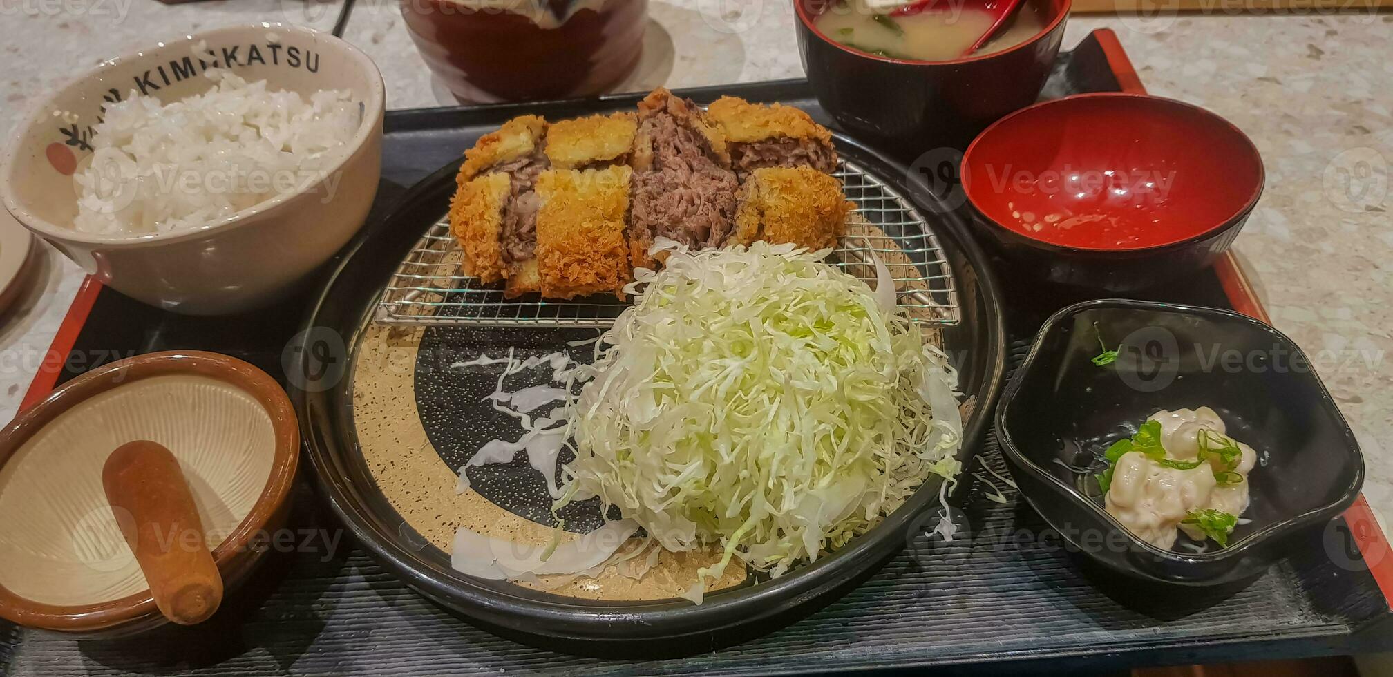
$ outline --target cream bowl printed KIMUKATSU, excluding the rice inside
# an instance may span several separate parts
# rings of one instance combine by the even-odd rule
[[[192,60],[199,43],[234,57],[230,63],[221,56],[206,64]],[[258,47],[263,57],[248,59],[249,47]],[[270,57],[272,47],[279,59]],[[286,59],[291,49],[299,56],[295,61]],[[191,61],[192,68],[187,65]],[[95,152],[93,131],[111,92],[128,92],[135,84],[169,104],[206,92],[213,82],[202,72],[228,65],[249,82],[266,81],[270,91],[351,93],[361,121],[343,156],[323,167],[325,180],[277,192],[202,226],[137,234],[74,228],[78,194],[72,174]],[[187,35],[103,61],[59,88],[10,141],[0,167],[0,196],[20,223],[117,291],[180,313],[244,312],[283,297],[364,223],[380,176],[383,109],[376,65],[329,33],[265,22]],[[337,181],[332,195],[327,180]]]

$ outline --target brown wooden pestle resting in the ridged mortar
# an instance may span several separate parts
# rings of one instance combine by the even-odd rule
[[[102,468],[102,485],[160,613],[181,625],[213,616],[223,578],[174,454],[149,440],[121,444]]]

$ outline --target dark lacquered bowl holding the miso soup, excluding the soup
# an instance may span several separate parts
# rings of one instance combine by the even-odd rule
[[[795,0],[798,49],[818,102],[847,131],[914,159],[964,149],[978,132],[1039,98],[1064,38],[1071,0],[1027,0],[1045,20],[1034,38],[990,54],[908,61],[847,47],[814,20],[832,0]]]

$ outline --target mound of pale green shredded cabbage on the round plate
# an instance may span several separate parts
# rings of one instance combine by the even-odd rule
[[[556,508],[599,496],[669,550],[719,543],[699,579],[731,557],[780,575],[961,471],[947,358],[826,252],[655,251],[666,266],[637,272],[634,306],[577,369],[593,380]]]

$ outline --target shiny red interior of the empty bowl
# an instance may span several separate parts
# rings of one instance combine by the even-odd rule
[[[1219,228],[1262,192],[1258,149],[1188,103],[1080,95],[1002,118],[968,146],[963,187],[996,224],[1078,249],[1144,249]]]

